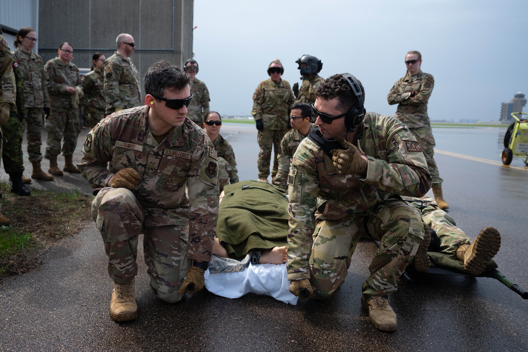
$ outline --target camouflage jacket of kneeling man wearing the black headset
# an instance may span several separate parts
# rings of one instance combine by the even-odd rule
[[[354,143],[367,158],[366,175],[337,173],[332,158],[305,138],[288,174],[288,279],[309,279],[315,223],[369,215],[393,194],[421,197],[431,176],[420,145],[398,119],[366,113]]]

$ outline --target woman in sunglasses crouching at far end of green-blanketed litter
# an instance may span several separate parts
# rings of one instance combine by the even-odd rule
[[[194,98],[194,96],[193,96]],[[238,182],[237,161],[234,160],[234,152],[231,144],[220,135],[222,117],[215,111],[205,113],[203,127],[205,133],[214,145],[218,154],[218,182],[220,192],[226,184]]]

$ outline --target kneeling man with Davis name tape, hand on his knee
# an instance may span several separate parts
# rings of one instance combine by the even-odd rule
[[[190,77],[159,61],[146,72],[144,88],[147,105],[99,122],[78,164],[97,192],[92,216],[114,281],[110,317],[116,321],[137,317],[139,234],[145,235],[150,287],[174,303],[186,290],[203,288],[218,219],[218,156],[203,129],[186,117]]]

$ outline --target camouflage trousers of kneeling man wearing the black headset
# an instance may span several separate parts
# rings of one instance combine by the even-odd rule
[[[382,202],[369,216],[346,221],[323,220],[313,234],[310,283],[315,298],[330,298],[345,281],[352,254],[362,237],[380,241],[369,266],[363,293],[386,295],[397,290],[396,280],[411,262],[423,238],[419,211],[401,200]]]

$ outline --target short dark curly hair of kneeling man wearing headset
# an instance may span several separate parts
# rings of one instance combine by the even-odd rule
[[[363,104],[365,104],[365,89],[363,88],[361,81],[357,78],[356,80],[360,84],[361,93],[363,94]],[[357,104],[357,97],[354,94],[354,91],[350,87],[350,84],[348,84],[347,79],[340,73],[328,77],[322,84],[320,84],[315,91],[315,95],[323,99],[338,98],[339,104],[337,105],[337,108],[340,109],[343,114]]]

